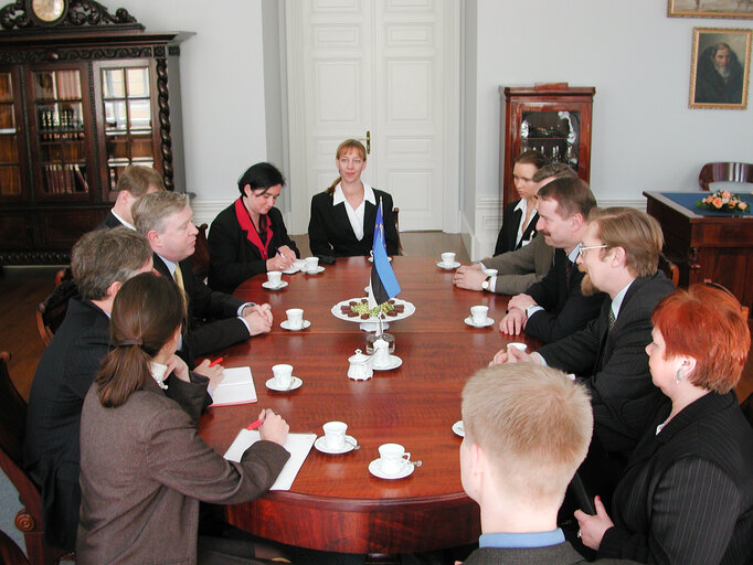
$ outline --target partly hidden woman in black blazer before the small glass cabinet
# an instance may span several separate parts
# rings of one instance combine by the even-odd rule
[[[516,157],[512,167],[512,183],[520,198],[505,207],[502,227],[499,230],[495,246],[495,257],[520,249],[535,236],[535,223],[539,221],[539,214],[535,211],[535,193],[539,182],[533,180],[533,175],[545,162],[547,158],[534,149],[523,151]]]

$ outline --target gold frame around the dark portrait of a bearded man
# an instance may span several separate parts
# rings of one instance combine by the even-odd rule
[[[718,109],[734,109],[744,110],[747,107],[747,83],[751,70],[751,30],[740,30],[731,28],[693,28],[693,43],[692,57],[690,61],[690,94],[688,96],[688,107],[690,108],[718,108]],[[702,35],[715,35],[713,39],[702,39]],[[742,44],[740,39],[732,41],[733,36],[744,36],[744,53],[740,53],[739,49]],[[696,102],[696,82],[698,77],[699,51],[701,47],[708,49],[714,43],[729,43],[735,55],[739,56],[743,64],[743,84],[742,96],[740,103],[723,103],[723,102]]]

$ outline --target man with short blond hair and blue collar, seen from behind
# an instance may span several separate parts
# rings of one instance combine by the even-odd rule
[[[470,377],[462,409],[460,480],[481,512],[465,565],[586,563],[556,526],[593,431],[585,387],[554,369],[497,365]]]

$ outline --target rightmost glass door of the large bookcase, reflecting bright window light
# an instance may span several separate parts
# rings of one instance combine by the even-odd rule
[[[155,167],[151,72],[144,66],[108,66],[99,70],[105,117],[105,151],[109,191],[129,164]]]

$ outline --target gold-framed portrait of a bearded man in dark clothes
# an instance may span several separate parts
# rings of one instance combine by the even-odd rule
[[[751,30],[693,28],[691,108],[747,107]]]

